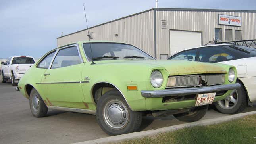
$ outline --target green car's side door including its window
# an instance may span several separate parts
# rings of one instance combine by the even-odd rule
[[[85,108],[81,88],[84,63],[77,45],[61,48],[55,55],[41,81],[48,105]]]

